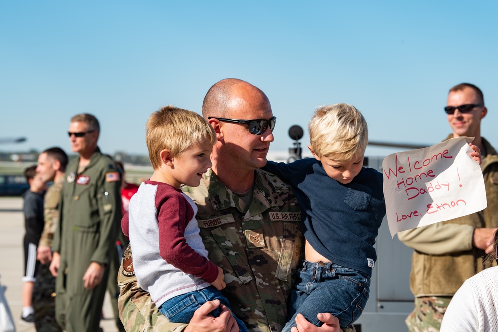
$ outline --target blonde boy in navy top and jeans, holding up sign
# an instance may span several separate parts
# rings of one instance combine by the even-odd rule
[[[336,316],[341,327],[360,317],[377,259],[373,245],[385,215],[382,173],[363,167],[368,129],[360,111],[348,104],[319,107],[308,129],[315,158],[268,161],[263,167],[292,185],[303,211],[305,260],[282,332],[296,326],[298,313],[317,326],[322,324],[319,313]],[[471,156],[480,162],[477,147],[472,148]]]

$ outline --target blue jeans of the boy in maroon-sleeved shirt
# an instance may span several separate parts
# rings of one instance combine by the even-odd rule
[[[214,288],[214,286],[209,286],[198,291],[175,296],[160,305],[158,309],[161,314],[169,319],[170,322],[188,323],[192,319],[192,316],[194,316],[194,311],[199,309],[199,307],[205,302],[216,299],[220,300],[220,303],[223,303],[225,306],[230,308],[227,298],[224,297],[220,291]],[[211,314],[214,317],[220,316],[220,308],[216,308],[211,312]],[[232,313],[232,315],[239,326],[239,331],[248,332],[244,322],[238,319],[234,313]]]

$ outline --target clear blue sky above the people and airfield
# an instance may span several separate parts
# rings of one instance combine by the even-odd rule
[[[0,138],[27,142],[0,150],[70,152],[69,119],[89,112],[104,152],[147,154],[150,113],[200,113],[227,77],[268,95],[273,151],[316,106],[338,102],[362,111],[371,140],[437,143],[461,82],[483,90],[482,134],[498,148],[497,63],[496,0],[1,1]]]

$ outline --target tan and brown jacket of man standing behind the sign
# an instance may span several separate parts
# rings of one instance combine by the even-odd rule
[[[484,138],[483,144],[487,154],[482,158],[481,170],[488,207],[468,216],[398,233],[403,243],[415,249],[410,289],[416,297],[453,296],[465,280],[491,266],[484,251],[472,246],[474,228],[493,228],[498,222],[498,155]]]

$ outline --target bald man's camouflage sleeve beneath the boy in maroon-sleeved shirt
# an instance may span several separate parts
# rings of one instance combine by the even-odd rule
[[[120,286],[118,309],[126,331],[183,331],[188,324],[172,323],[159,312],[150,294],[137,284],[132,264],[131,248],[128,246],[118,272],[118,286]]]

